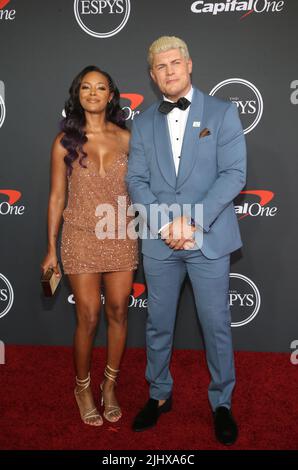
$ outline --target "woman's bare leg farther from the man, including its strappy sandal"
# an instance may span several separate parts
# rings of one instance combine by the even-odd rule
[[[100,312],[100,285],[101,274],[70,274],[69,281],[76,302],[77,326],[74,335],[74,366],[78,379],[76,386],[76,399],[82,418],[87,424],[100,426],[102,418],[98,414],[90,386],[81,385],[88,378],[91,368],[93,340],[98,325]],[[86,381],[88,383],[88,381]],[[85,382],[85,383],[86,383]]]

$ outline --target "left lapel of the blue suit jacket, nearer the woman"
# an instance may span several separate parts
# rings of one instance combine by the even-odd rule
[[[172,154],[167,117],[166,115],[160,113],[158,108],[156,108],[154,116],[154,143],[160,172],[167,183],[175,188],[176,171]]]

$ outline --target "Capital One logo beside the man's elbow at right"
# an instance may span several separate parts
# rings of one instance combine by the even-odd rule
[[[248,195],[250,201],[240,203],[241,195]],[[241,191],[240,195],[235,200],[235,212],[239,216],[238,220],[244,219],[247,216],[251,217],[274,217],[277,213],[277,207],[268,206],[272,201],[275,194],[272,191],[264,190],[249,190]],[[237,203],[239,201],[239,204]]]

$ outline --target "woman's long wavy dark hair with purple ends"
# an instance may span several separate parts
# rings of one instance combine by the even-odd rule
[[[65,103],[66,117],[61,121],[60,129],[64,132],[61,139],[61,144],[67,150],[67,155],[64,161],[67,165],[67,174],[70,176],[72,173],[72,163],[79,158],[79,163],[83,168],[86,168],[83,160],[87,157],[86,152],[83,150],[83,145],[87,142],[87,136],[84,131],[86,124],[85,112],[80,103],[80,86],[84,76],[89,72],[99,72],[104,75],[109,84],[109,90],[113,92],[113,98],[108,103],[106,108],[107,121],[113,122],[122,129],[126,128],[125,113],[120,107],[120,93],[116,87],[112,77],[107,73],[96,67],[89,65],[85,67],[73,80],[69,89],[69,98]]]

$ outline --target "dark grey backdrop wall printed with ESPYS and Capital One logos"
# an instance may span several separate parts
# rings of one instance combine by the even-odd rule
[[[67,279],[45,298],[40,263],[50,148],[73,77],[91,64],[108,71],[130,127],[158,98],[148,46],[177,35],[190,49],[193,84],[235,102],[246,134],[248,179],[235,200],[244,246],[232,256],[229,297],[235,348],[290,350],[298,338],[297,31],[295,0],[0,0],[0,341],[72,343]],[[140,266],[128,346],[144,346],[146,314]],[[103,315],[97,345],[105,344],[105,328]],[[186,280],[175,347],[202,346]]]

